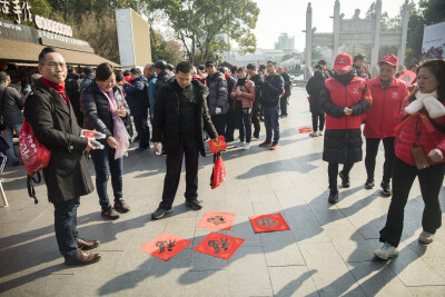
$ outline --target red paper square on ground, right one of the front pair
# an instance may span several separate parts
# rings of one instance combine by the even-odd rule
[[[211,232],[194,250],[228,260],[243,242],[243,238]]]

